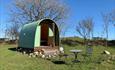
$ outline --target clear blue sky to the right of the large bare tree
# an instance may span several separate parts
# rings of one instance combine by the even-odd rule
[[[95,23],[94,36],[104,36],[103,19],[101,13],[108,13],[115,9],[115,0],[65,0],[70,7],[70,16],[67,19],[72,26],[66,36],[79,36],[75,31],[75,25],[82,19],[92,17]],[[109,39],[115,39],[115,27],[110,26]]]

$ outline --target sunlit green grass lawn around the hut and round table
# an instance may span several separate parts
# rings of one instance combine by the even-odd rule
[[[54,64],[52,60],[58,60],[58,57],[52,60],[42,59],[40,57],[29,58],[28,55],[23,55],[16,51],[8,50],[8,48],[16,47],[15,45],[0,45],[0,70],[115,70],[115,61],[103,62],[101,64],[96,63],[100,53],[107,49],[112,54],[115,54],[115,48],[112,47],[93,47],[94,52],[92,55],[92,62],[86,62],[79,54],[78,59],[82,62],[72,63],[74,59],[72,53],[69,52],[71,49],[81,49],[84,53],[85,48],[83,46],[67,46],[64,45],[65,53],[70,56],[67,59],[62,58],[66,61],[66,64]],[[82,54],[81,53],[81,54]]]

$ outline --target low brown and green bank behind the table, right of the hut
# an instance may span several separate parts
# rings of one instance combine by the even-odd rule
[[[105,46],[106,40],[103,38],[98,38],[95,37],[93,40],[90,40],[90,42],[93,45],[103,45]],[[80,37],[65,37],[61,39],[61,43],[62,44],[67,44],[70,46],[74,46],[74,45],[83,45],[84,44],[84,39],[80,38]],[[108,46],[115,46],[115,40],[109,40],[108,42]]]

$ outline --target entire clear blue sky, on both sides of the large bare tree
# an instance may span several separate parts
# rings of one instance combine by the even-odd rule
[[[8,17],[8,4],[12,0],[0,0],[0,37],[4,35],[4,27]],[[108,13],[115,9],[115,0],[64,0],[64,3],[69,7],[69,16],[66,19],[68,24],[65,36],[79,36],[75,31],[75,25],[82,19],[92,17],[95,23],[94,36],[104,36],[103,20],[101,13]],[[3,31],[1,31],[3,30]],[[109,39],[115,39],[115,27],[110,26]]]

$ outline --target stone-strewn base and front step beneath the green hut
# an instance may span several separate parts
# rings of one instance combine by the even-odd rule
[[[51,46],[40,46],[35,48],[21,48],[18,47],[20,52],[26,53],[37,53],[37,55],[45,55],[45,56],[52,56],[59,54],[59,46],[51,47]]]

